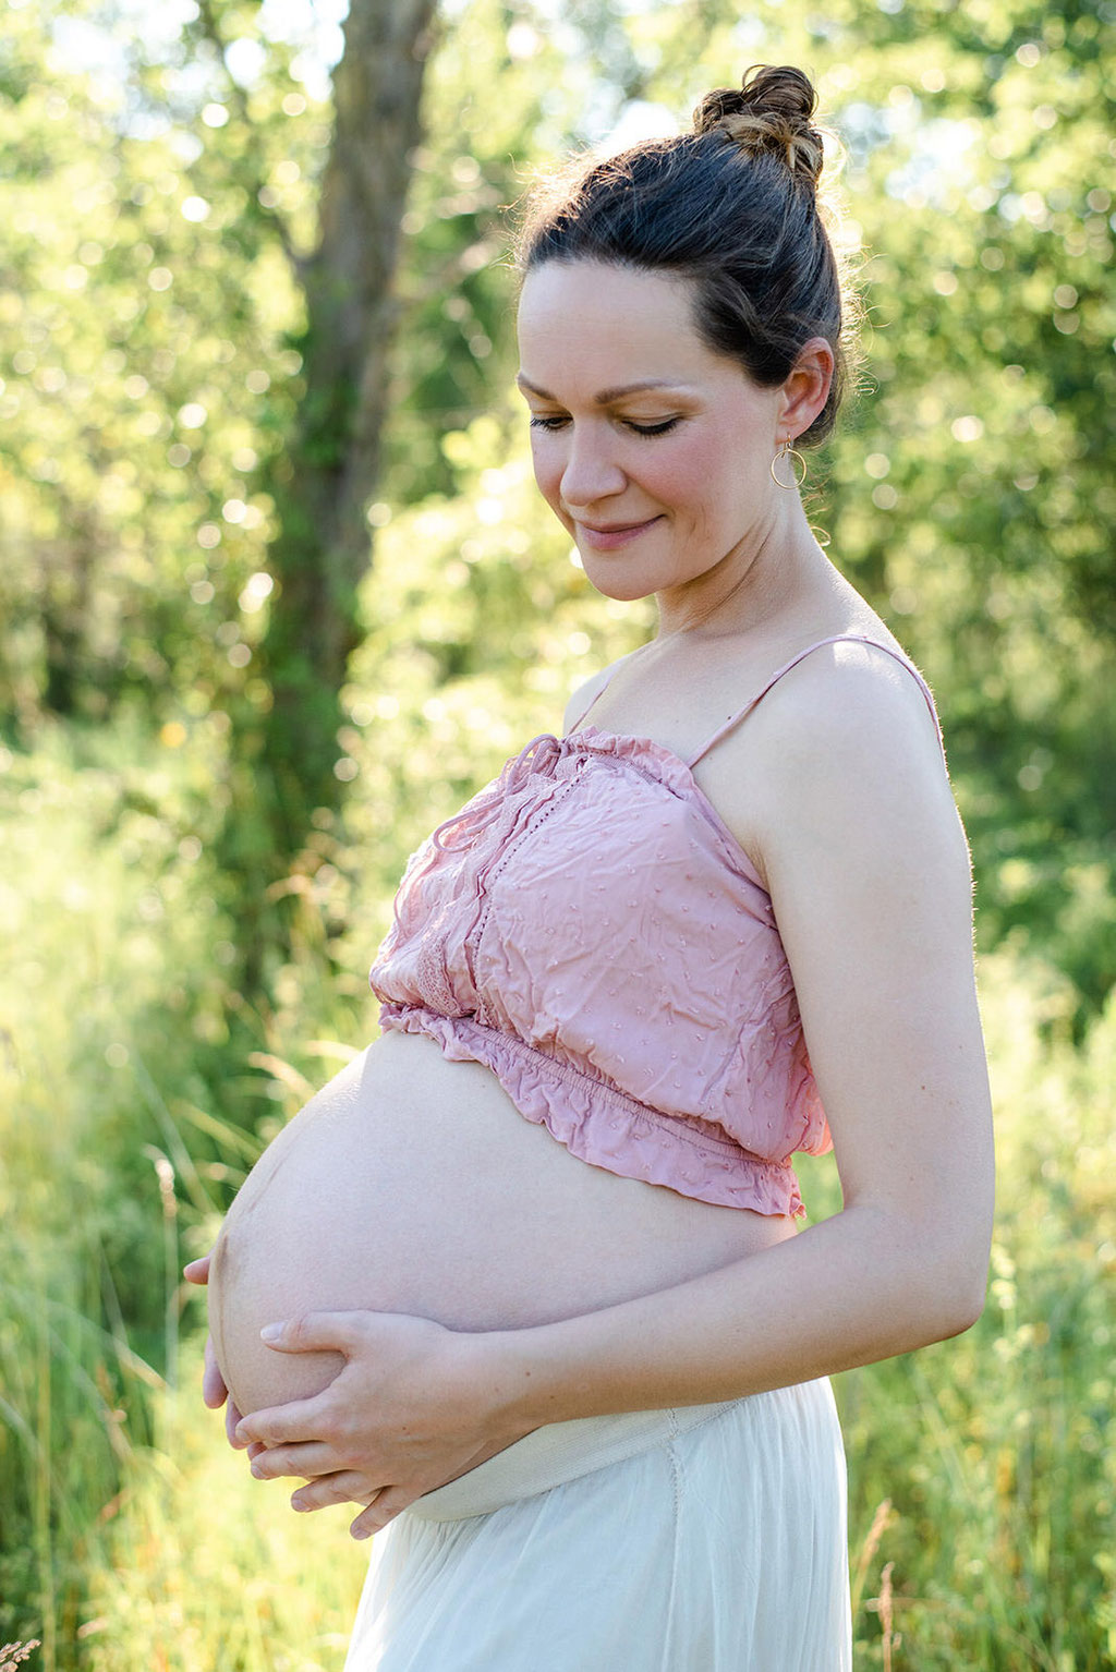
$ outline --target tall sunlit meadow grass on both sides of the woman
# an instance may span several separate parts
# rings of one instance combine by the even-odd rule
[[[135,759],[0,756],[0,1642],[42,1639],[32,1672],[327,1672],[364,1552],[342,1510],[296,1517],[226,1446],[177,1267],[324,1075],[316,1052],[359,1040],[368,1010],[316,986],[307,956],[279,1013],[244,1015],[222,976],[236,926],[207,905],[205,764]],[[982,991],[989,1308],[839,1381],[857,1667],[1101,1672],[1116,1008],[1074,1048],[1074,995],[1041,965],[989,958]],[[832,1162],[802,1174],[832,1211]]]

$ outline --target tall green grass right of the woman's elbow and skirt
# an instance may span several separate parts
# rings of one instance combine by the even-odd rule
[[[1116,1665],[1116,1003],[1083,1048],[1074,995],[982,965],[997,1117],[989,1302],[966,1336],[840,1378],[852,1545],[890,1501],[892,1662],[917,1672]],[[859,1665],[885,1665],[865,1610]]]

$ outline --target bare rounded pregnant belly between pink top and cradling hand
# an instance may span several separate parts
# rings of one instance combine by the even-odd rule
[[[209,1284],[241,1411],[302,1398],[336,1354],[277,1354],[267,1323],[393,1311],[523,1328],[668,1287],[794,1236],[794,1221],[620,1179],[531,1125],[479,1063],[386,1033],[249,1174]]]

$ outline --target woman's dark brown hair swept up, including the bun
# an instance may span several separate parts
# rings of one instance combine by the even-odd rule
[[[520,273],[590,259],[688,278],[702,339],[765,388],[784,383],[812,336],[825,338],[834,385],[799,436],[824,441],[845,385],[847,306],[819,212],[815,102],[802,70],[753,65],[738,90],[702,99],[692,134],[576,161],[530,199]]]

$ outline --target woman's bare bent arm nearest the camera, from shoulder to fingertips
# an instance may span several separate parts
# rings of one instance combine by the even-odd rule
[[[329,1398],[339,1378],[314,1411],[249,1418],[242,1435],[281,1448],[256,1458],[259,1473],[391,1483],[356,1523],[371,1530],[413,1501],[419,1480],[439,1483],[439,1431],[446,1456],[461,1458],[464,1441],[476,1461],[541,1423],[730,1399],[904,1353],[977,1318],[992,1145],[969,858],[922,696],[877,662],[842,664],[837,684],[824,657],[804,664],[743,746],[742,836],[762,858],[794,971],[842,1212],[722,1271],[556,1324],[419,1339],[411,1319],[336,1321],[342,1378],[353,1373],[346,1411],[339,1391]],[[311,1344],[322,1344],[319,1323],[281,1338],[282,1349]],[[337,1445],[311,1441],[322,1421]],[[408,1481],[391,1423],[423,1436]],[[336,1501],[339,1481],[297,1496]]]

